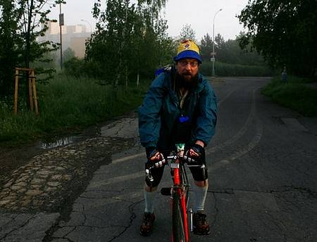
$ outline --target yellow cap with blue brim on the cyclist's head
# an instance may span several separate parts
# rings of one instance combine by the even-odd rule
[[[194,58],[197,59],[199,63],[202,63],[201,57],[199,56],[199,48],[192,40],[186,39],[180,42],[178,46],[177,56],[174,57],[175,61],[184,58]]]

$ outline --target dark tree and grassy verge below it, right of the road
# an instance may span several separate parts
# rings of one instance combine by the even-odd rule
[[[302,115],[317,117],[317,91],[306,85],[317,77],[317,1],[249,1],[237,18],[247,27],[240,37],[242,49],[251,46],[271,68],[289,75],[287,82],[274,78],[263,94]]]

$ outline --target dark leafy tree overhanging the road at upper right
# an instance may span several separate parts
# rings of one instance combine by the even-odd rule
[[[238,18],[248,29],[242,48],[251,44],[271,66],[295,75],[316,74],[316,0],[249,1]]]

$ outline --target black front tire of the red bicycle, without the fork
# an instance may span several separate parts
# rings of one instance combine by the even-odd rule
[[[182,203],[178,191],[173,193],[173,242],[187,242],[185,238],[184,216],[182,214]]]

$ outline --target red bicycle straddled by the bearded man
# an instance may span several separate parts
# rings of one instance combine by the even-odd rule
[[[173,178],[173,186],[162,188],[161,194],[170,196],[172,210],[172,242],[188,242],[189,228],[192,231],[192,208],[188,208],[189,203],[189,181],[185,169],[186,160],[184,159],[184,144],[176,144],[175,154],[166,157],[167,165],[170,166],[170,173]],[[168,163],[168,161],[170,161]],[[189,165],[187,167],[201,167],[204,165]],[[150,167],[146,170],[147,177],[151,177]],[[188,222],[189,218],[189,222]]]

